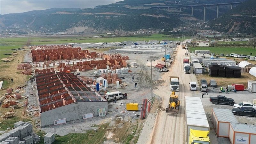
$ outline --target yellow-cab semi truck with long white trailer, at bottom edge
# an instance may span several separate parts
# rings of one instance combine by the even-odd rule
[[[210,126],[202,101],[198,97],[185,97],[187,144],[210,144]]]

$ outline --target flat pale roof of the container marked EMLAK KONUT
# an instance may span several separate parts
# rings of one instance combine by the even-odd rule
[[[247,124],[237,124],[237,123],[230,123],[232,129],[235,132],[245,132],[245,133],[252,133],[256,134],[256,126],[255,125],[247,125]]]

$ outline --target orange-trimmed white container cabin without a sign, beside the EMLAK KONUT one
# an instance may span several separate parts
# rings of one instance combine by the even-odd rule
[[[230,109],[212,108],[212,124],[218,137],[229,137],[230,123],[238,123]]]

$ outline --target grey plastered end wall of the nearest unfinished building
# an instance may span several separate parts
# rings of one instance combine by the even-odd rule
[[[41,127],[53,125],[54,120],[66,118],[67,122],[77,119],[83,119],[82,115],[93,113],[98,116],[98,108],[106,108],[108,112],[108,102],[75,102],[59,108],[54,108],[41,113]]]

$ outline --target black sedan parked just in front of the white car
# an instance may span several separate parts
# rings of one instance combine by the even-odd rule
[[[254,116],[254,117],[256,117],[256,110],[252,107],[233,108],[232,113],[236,116]]]

